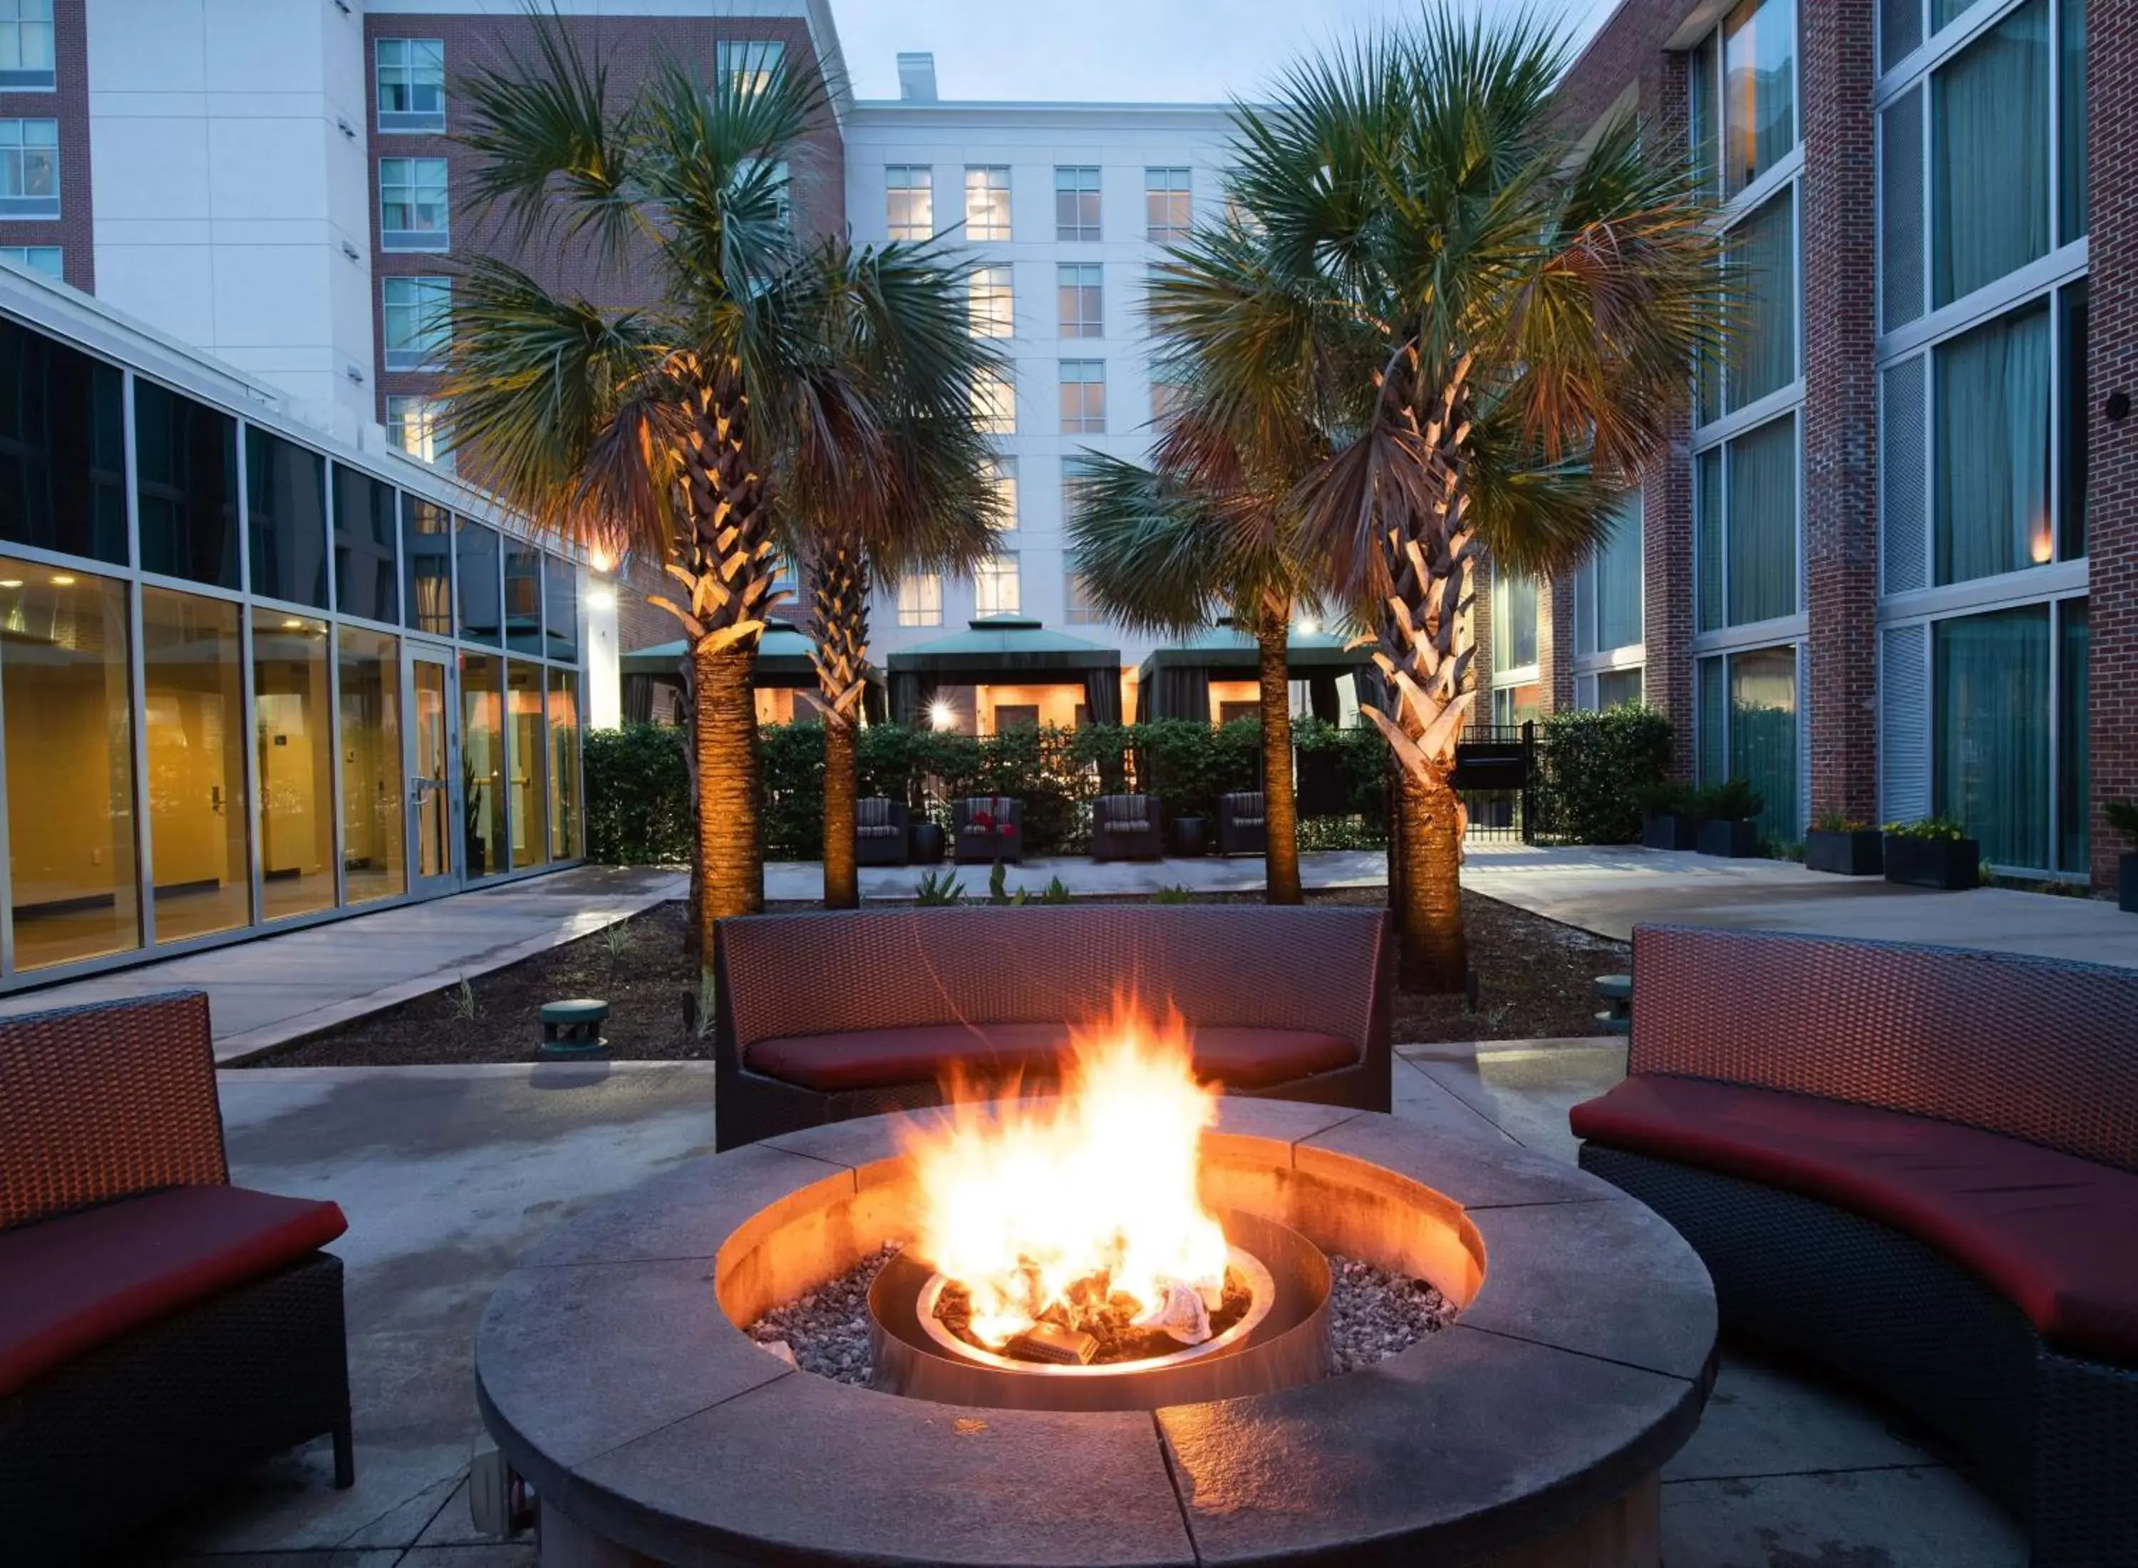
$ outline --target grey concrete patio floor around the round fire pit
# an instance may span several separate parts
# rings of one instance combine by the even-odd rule
[[[1610,1042],[1420,1046],[1396,1110],[1450,1140],[1571,1157],[1565,1110],[1623,1074]],[[237,1181],[338,1200],[351,1232],[357,1485],[325,1442],[263,1465],[120,1562],[195,1568],[530,1568],[475,1536],[470,1343],[511,1260],[558,1219],[712,1147],[706,1063],[224,1072]],[[710,1305],[710,1303],[708,1303]],[[1918,1433],[1815,1373],[1725,1352],[1670,1463],[1672,1568],[2018,1568],[2010,1519]]]

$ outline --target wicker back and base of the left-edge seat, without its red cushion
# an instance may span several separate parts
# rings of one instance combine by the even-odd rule
[[[227,1181],[207,997],[0,1020],[0,1230]],[[0,1559],[81,1562],[323,1433],[353,1485],[342,1262],[314,1251],[0,1399]]]

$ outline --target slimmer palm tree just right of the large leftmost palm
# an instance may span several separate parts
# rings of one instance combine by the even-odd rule
[[[800,314],[817,355],[868,389],[877,421],[806,464],[776,509],[808,599],[823,714],[823,903],[862,903],[855,732],[868,670],[868,603],[915,571],[971,571],[994,550],[992,447],[973,385],[994,353],[971,334],[966,267],[928,246],[855,252],[827,242]]]

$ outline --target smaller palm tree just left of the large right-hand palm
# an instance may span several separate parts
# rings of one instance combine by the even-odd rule
[[[1071,565],[1093,601],[1133,631],[1197,631],[1217,603],[1255,637],[1266,896],[1300,903],[1287,655],[1293,612],[1315,603],[1313,578],[1281,490],[1257,490],[1238,471],[1231,479],[1219,492],[1120,458],[1086,456],[1069,518]]]

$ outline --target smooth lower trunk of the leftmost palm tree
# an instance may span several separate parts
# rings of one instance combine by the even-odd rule
[[[765,907],[765,845],[757,802],[757,640],[699,644],[697,661],[697,860],[703,866],[699,941],[712,926]]]

